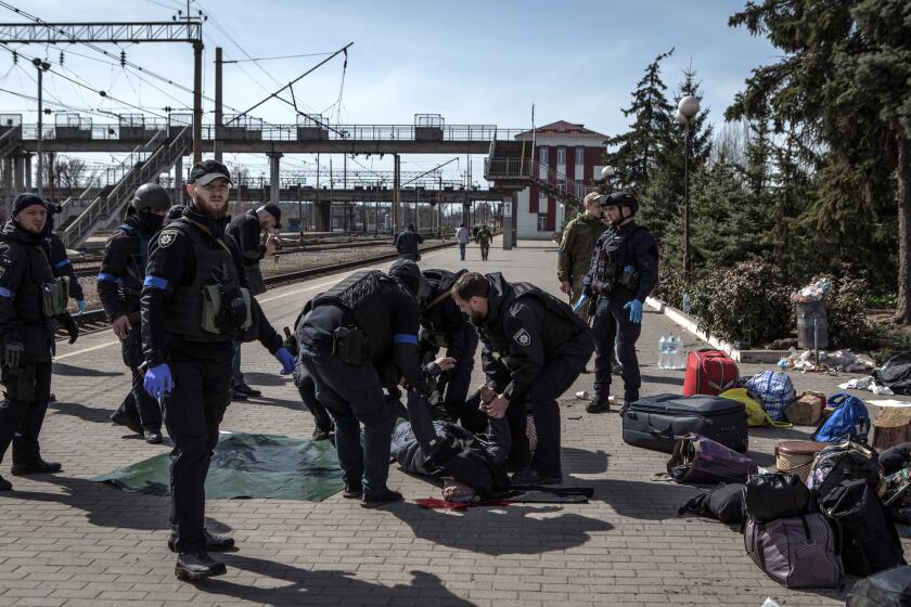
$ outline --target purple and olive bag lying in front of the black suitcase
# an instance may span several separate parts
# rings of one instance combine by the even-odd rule
[[[706,437],[689,434],[680,437],[667,463],[667,472],[677,482],[715,485],[743,482],[756,474],[756,462]]]

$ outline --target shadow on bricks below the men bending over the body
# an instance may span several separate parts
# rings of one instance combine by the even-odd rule
[[[411,527],[416,538],[492,556],[568,550],[588,542],[592,532],[614,528],[607,521],[575,513],[554,516],[562,512],[560,506],[473,507],[459,514],[413,504],[383,509]]]

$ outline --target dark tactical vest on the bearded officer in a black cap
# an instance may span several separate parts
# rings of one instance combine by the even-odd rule
[[[249,293],[241,287],[241,276],[234,263],[233,255],[221,238],[214,242],[190,224],[185,218],[168,223],[190,238],[193,257],[196,261],[196,274],[189,285],[175,287],[167,305],[168,332],[183,335],[188,341],[223,343],[253,341],[257,338],[258,327],[253,319]],[[239,288],[246,306],[246,321],[229,332],[219,332],[211,325],[211,317],[218,313],[222,304],[216,294],[220,289]]]

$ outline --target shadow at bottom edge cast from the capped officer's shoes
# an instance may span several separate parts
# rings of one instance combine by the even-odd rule
[[[317,559],[319,555],[313,555]],[[211,578],[194,585],[203,593],[230,596],[265,605],[452,605],[474,604],[452,594],[442,580],[426,571],[411,571],[410,584],[387,586],[355,578],[351,571],[308,570],[283,563],[236,554],[218,555],[229,567],[287,581],[280,587],[258,587]]]

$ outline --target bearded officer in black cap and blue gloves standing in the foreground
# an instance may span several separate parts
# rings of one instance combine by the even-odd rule
[[[241,254],[224,236],[231,175],[215,160],[193,166],[192,203],[149,247],[140,300],[144,387],[162,399],[171,451],[171,524],[168,545],[180,553],[175,573],[198,580],[226,572],[208,551],[232,547],[231,538],[205,529],[205,480],[231,387],[238,339],[259,341],[282,364],[294,359],[246,289]]]

